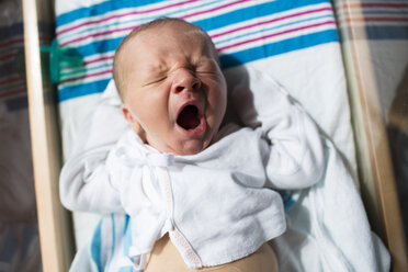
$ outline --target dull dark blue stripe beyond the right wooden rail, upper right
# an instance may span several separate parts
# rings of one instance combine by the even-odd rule
[[[367,25],[369,39],[408,39],[408,24],[404,26]]]

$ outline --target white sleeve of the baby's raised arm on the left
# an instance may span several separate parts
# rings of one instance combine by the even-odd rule
[[[129,129],[111,81],[92,114],[84,118],[59,179],[63,205],[72,211],[122,212],[106,166],[109,152]]]

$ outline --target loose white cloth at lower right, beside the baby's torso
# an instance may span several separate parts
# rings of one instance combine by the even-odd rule
[[[282,271],[389,271],[390,257],[371,231],[352,175],[329,139],[324,178],[294,192],[286,233],[272,240]]]

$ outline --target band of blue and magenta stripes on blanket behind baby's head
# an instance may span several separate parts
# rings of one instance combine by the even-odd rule
[[[175,16],[208,32],[224,68],[337,42],[327,0],[301,1],[104,1],[57,18],[59,45],[76,48],[84,65],[61,71],[59,100],[102,92],[112,77],[114,52],[133,29]]]

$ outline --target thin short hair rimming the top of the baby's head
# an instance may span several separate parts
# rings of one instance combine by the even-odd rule
[[[140,34],[141,32],[145,32],[147,30],[151,30],[151,29],[155,29],[157,26],[160,26],[160,25],[166,25],[166,24],[184,24],[184,25],[189,25],[189,26],[192,26],[195,31],[197,31],[197,33],[202,34],[205,39],[208,42],[209,46],[211,46],[211,49],[214,54],[214,57],[216,59],[216,61],[218,63],[219,65],[219,59],[218,59],[218,52],[213,43],[213,41],[211,39],[211,37],[208,36],[208,34],[203,30],[201,29],[200,26],[195,25],[195,24],[192,24],[192,23],[189,23],[184,20],[181,20],[181,19],[178,19],[178,18],[159,18],[159,19],[156,19],[154,21],[150,21],[150,22],[147,22],[145,24],[141,24],[139,26],[137,26],[136,29],[134,29],[122,42],[121,44],[117,46],[116,48],[116,52],[115,52],[115,57],[113,59],[113,79],[115,81],[115,84],[116,84],[116,89],[117,89],[117,92],[123,101],[123,82],[121,82],[121,77],[120,77],[120,72],[118,72],[118,67],[117,67],[117,58],[123,49],[123,47],[127,44],[127,42],[129,42],[132,38],[134,38],[135,36],[137,36],[138,34]]]

